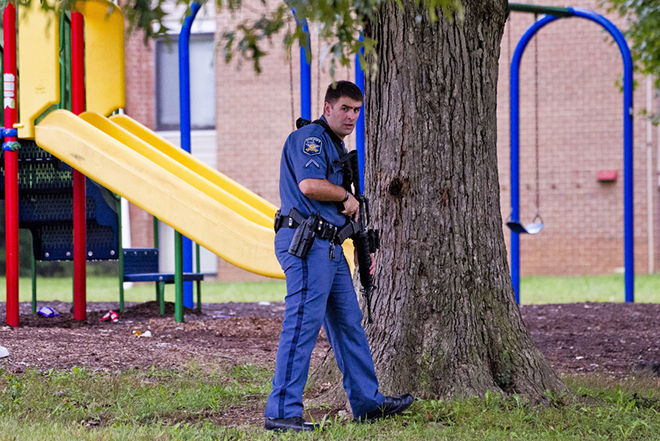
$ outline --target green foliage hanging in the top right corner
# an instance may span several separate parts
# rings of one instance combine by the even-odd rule
[[[660,0],[606,0],[628,22],[626,37],[632,42],[637,68],[660,78]],[[656,81],[660,87],[660,80]]]

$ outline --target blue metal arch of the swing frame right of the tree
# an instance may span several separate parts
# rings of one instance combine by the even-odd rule
[[[626,39],[612,22],[594,11],[583,8],[566,8],[569,17],[581,17],[594,21],[604,27],[614,38],[623,59],[623,197],[624,197],[624,262],[625,274],[625,300],[635,300],[635,244],[634,244],[634,188],[633,188],[633,64],[630,49]],[[520,61],[525,47],[531,38],[543,26],[559,18],[545,15],[527,29],[522,36],[511,60],[511,220],[520,221],[519,200],[519,71]],[[511,280],[516,293],[516,301],[520,302],[520,242],[516,233],[511,233]]]

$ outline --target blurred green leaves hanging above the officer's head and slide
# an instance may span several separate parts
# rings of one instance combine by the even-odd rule
[[[167,34],[163,23],[165,14],[163,4],[172,0],[128,0],[123,10],[133,30],[143,30],[146,38],[157,38]],[[386,2],[395,1],[400,7],[415,7],[428,14],[431,21],[439,15],[452,18],[462,15],[460,0],[287,0],[285,2],[267,2],[261,0],[259,7],[244,5],[242,0],[215,0],[218,11],[232,14],[247,10],[251,19],[241,21],[233,29],[227,29],[221,36],[221,50],[227,62],[234,57],[251,61],[257,72],[261,71],[260,60],[272,47],[275,38],[282,38],[287,48],[294,42],[307,47],[309,42],[303,31],[304,21],[315,25],[323,42],[328,44],[330,71],[337,65],[348,65],[351,56],[360,53],[373,53],[376,41],[369,38],[364,41],[360,33],[368,29],[376,19],[378,9]],[[192,0],[176,0],[177,4],[190,7]],[[292,14],[296,11],[296,16]],[[183,18],[183,17],[182,17]],[[311,55],[311,54],[310,54]]]

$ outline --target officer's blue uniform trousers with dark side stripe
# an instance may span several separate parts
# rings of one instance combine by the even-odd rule
[[[294,231],[282,228],[275,236],[275,253],[286,275],[287,296],[273,392],[268,397],[265,416],[302,416],[302,395],[312,349],[323,325],[343,374],[353,415],[359,417],[375,410],[385,397],[378,392],[348,263],[340,246],[335,247],[330,260],[331,245],[319,238],[306,258],[290,255]]]

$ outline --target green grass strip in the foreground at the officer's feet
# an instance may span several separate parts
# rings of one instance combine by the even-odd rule
[[[111,374],[0,371],[0,440],[660,439],[660,380],[583,376],[565,378],[574,394],[553,397],[545,407],[495,394],[420,400],[402,417],[375,424],[331,417],[321,433],[275,435],[261,426],[271,374],[255,365]],[[231,427],[246,416],[256,423]]]

